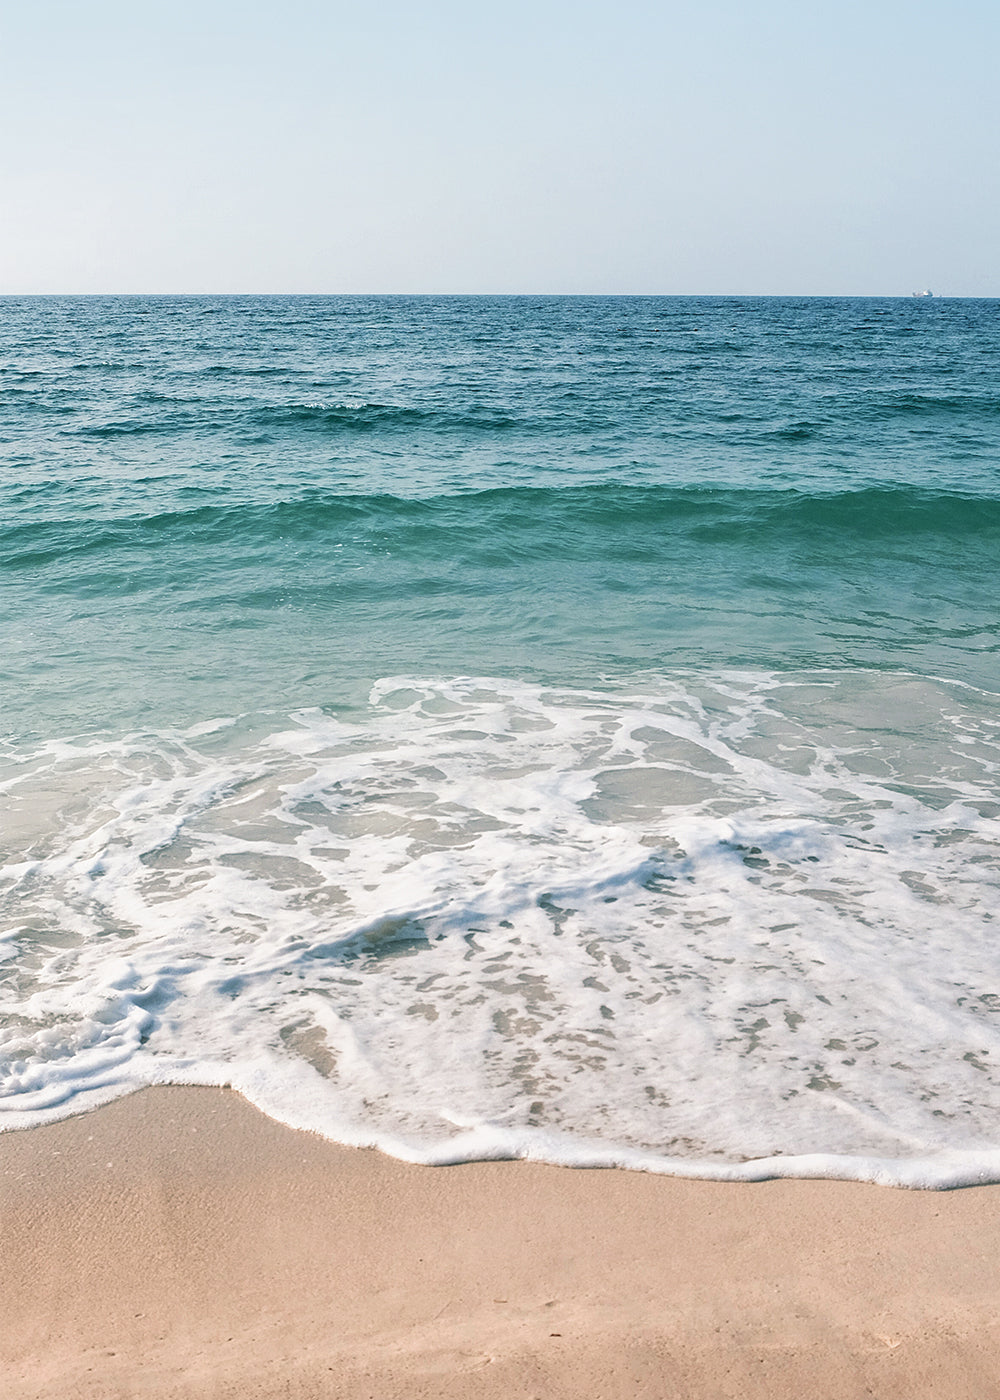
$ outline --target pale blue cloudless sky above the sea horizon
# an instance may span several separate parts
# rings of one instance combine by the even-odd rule
[[[0,294],[1000,295],[999,0],[0,6]]]

